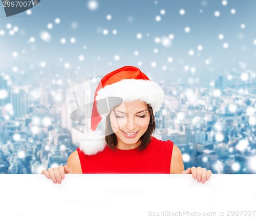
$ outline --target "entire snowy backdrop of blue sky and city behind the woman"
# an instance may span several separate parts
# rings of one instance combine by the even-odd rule
[[[45,0],[10,17],[2,8],[0,173],[67,164],[88,130],[90,111],[72,117],[93,101],[88,81],[129,65],[163,89],[154,137],[180,148],[185,169],[256,173],[254,6]]]

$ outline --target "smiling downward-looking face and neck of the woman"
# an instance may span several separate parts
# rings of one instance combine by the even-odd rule
[[[140,137],[146,132],[150,122],[150,111],[142,101],[123,102],[110,114],[113,132],[119,149],[133,149],[140,144]]]

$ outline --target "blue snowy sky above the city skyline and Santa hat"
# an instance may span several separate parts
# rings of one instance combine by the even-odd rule
[[[5,17],[1,8],[0,69],[18,75],[26,74],[24,66],[30,64],[41,71],[54,64],[63,72],[79,67],[78,75],[82,77],[133,65],[156,81],[193,79],[202,85],[225,71],[255,69],[253,0],[246,4],[234,0],[97,0],[95,10],[90,9],[90,2],[41,0],[31,14],[23,12],[11,17]],[[181,9],[185,11],[183,15]],[[59,24],[55,23],[56,18],[60,19]],[[53,28],[49,29],[48,24]],[[18,30],[10,35],[13,27]],[[185,32],[186,27],[189,32]],[[117,33],[113,34],[113,30]],[[42,31],[50,38],[47,34],[40,37]],[[74,43],[70,42],[72,37]],[[61,43],[61,38],[66,43]],[[38,70],[33,73],[40,77]]]

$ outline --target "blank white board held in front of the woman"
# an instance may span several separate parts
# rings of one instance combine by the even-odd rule
[[[200,217],[256,217],[255,210],[256,175],[212,175],[205,184],[191,175],[66,175],[61,184],[53,184],[44,175],[0,175],[3,218],[143,218],[175,213],[182,217],[199,217],[195,215],[199,213]],[[244,215],[232,216],[232,211]]]

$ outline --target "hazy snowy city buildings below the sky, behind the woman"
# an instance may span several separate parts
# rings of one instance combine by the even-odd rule
[[[247,72],[241,74],[242,78],[248,76]],[[171,140],[181,149],[185,168],[255,173],[256,79],[254,72],[250,76],[250,83],[241,80],[235,87],[224,86],[223,76],[208,89],[167,80],[160,83],[165,98],[155,116],[154,136]],[[2,75],[0,81],[0,172],[40,173],[66,164],[86,129],[86,121],[71,120],[67,110],[65,88],[73,82],[61,83],[58,78],[46,85],[38,81],[36,89],[8,85],[8,75]]]

